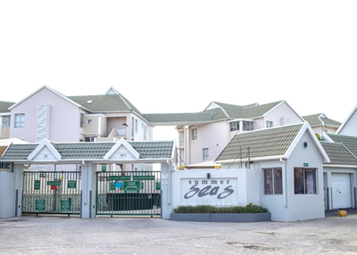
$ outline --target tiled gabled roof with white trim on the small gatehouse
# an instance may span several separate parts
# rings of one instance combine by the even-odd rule
[[[235,161],[241,158],[245,160],[287,159],[305,131],[309,132],[324,160],[328,161],[326,152],[323,151],[311,127],[306,122],[238,133],[233,136],[214,161]]]

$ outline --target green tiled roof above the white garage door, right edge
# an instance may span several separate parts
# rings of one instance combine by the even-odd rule
[[[357,166],[357,159],[340,143],[320,143],[331,160],[328,165]]]

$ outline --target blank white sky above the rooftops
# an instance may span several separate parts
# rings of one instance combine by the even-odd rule
[[[356,13],[357,1],[0,1],[0,101],[113,86],[143,113],[286,100],[343,122]]]

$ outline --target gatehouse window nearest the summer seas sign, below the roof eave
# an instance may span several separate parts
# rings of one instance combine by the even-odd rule
[[[283,193],[283,178],[281,169],[264,169],[264,193]]]

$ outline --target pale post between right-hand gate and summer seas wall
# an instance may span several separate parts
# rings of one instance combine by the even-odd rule
[[[172,211],[170,197],[170,164],[161,163],[162,171],[162,218],[170,218]]]

